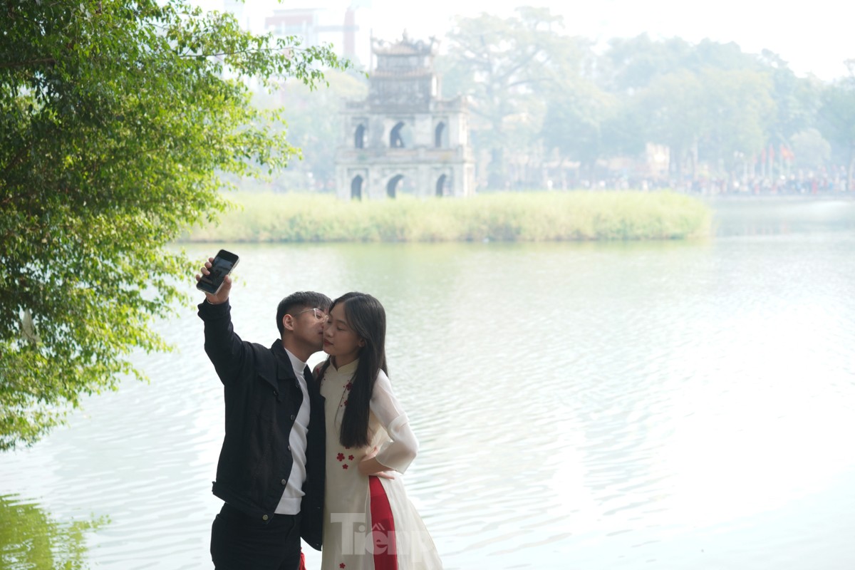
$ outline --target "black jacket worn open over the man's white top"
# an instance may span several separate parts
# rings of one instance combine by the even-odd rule
[[[245,514],[270,520],[285,490],[293,458],[288,436],[303,403],[291,361],[277,339],[267,348],[234,332],[229,303],[198,305],[205,352],[224,386],[226,436],[213,493]],[[310,400],[301,537],[321,549],[324,491],[323,400],[306,379]]]

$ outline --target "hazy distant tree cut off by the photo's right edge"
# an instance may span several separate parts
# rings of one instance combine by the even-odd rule
[[[847,62],[849,75],[828,85],[819,109],[819,128],[846,164],[846,188],[855,190],[855,60]]]

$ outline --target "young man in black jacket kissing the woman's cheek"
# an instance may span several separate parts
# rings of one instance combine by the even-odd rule
[[[203,274],[209,275],[211,261]],[[231,290],[226,277],[198,306],[205,352],[226,399],[213,488],[225,503],[211,528],[211,557],[217,570],[297,570],[301,536],[321,549],[323,403],[306,361],[323,348],[330,300],[312,291],[282,299],[280,338],[267,348],[235,334]]]

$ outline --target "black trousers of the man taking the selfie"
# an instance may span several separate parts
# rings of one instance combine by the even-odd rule
[[[257,520],[225,502],[211,526],[211,559],[216,570],[298,570],[300,515]]]

